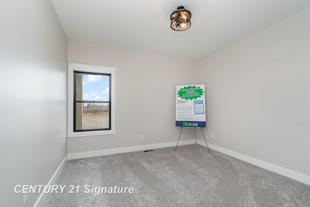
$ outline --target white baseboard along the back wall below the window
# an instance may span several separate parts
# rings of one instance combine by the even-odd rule
[[[176,146],[176,143],[177,142],[158,143],[158,144],[148,144],[148,145],[140,145],[140,146],[115,148],[115,149],[105,149],[105,150],[98,150],[98,151],[91,151],[91,152],[72,153],[72,154],[68,154],[68,159],[91,158],[91,157],[113,155],[113,154],[119,154],[119,153],[125,153],[125,152],[158,149],[158,148]],[[186,144],[194,144],[194,143],[196,143],[195,140],[186,140],[186,141],[180,141],[178,145],[186,145]]]

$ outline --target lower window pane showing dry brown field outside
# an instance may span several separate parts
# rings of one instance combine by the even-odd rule
[[[109,104],[77,103],[76,130],[109,129],[109,124]]]

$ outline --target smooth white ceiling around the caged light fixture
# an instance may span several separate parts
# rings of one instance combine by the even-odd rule
[[[68,39],[197,60],[310,7],[310,0],[51,0]],[[191,27],[170,28],[178,6]]]

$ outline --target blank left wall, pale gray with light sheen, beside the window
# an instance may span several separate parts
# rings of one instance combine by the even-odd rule
[[[14,187],[46,185],[67,155],[67,38],[48,0],[1,0],[0,26],[1,206],[32,207]]]

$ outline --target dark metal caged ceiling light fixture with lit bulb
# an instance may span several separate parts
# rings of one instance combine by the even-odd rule
[[[190,18],[192,13],[185,9],[184,6],[179,6],[170,15],[171,29],[174,31],[185,31],[190,27]]]

